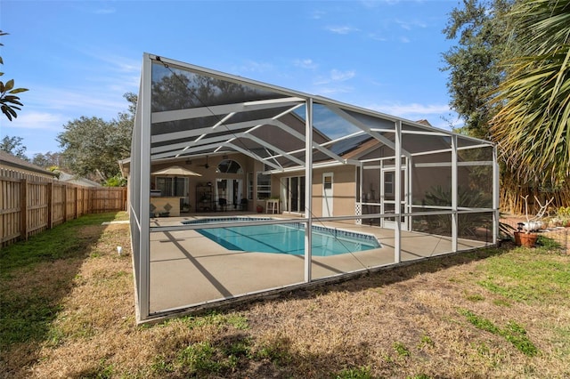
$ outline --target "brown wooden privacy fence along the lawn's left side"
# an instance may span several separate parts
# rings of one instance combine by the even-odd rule
[[[126,187],[83,187],[0,169],[0,246],[83,214],[126,209]]]

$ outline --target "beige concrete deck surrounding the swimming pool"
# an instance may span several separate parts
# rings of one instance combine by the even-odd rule
[[[151,226],[180,225],[205,216],[265,216],[265,214],[199,214],[151,219]],[[273,214],[273,217],[286,217]],[[317,224],[316,222],[314,223]],[[314,279],[394,264],[394,230],[346,222],[318,223],[343,230],[373,234],[382,247],[353,254],[313,257]],[[177,310],[304,283],[302,255],[236,252],[225,249],[194,230],[151,231],[151,313]],[[484,241],[459,240],[459,249],[489,245]],[[402,262],[448,254],[452,238],[402,232]]]

